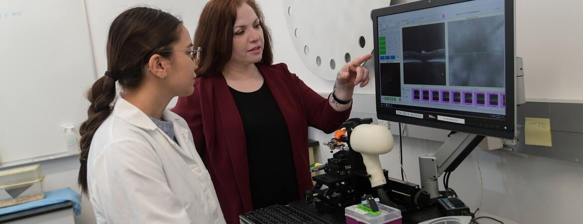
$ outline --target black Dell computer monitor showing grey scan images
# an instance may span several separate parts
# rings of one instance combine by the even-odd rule
[[[514,0],[371,12],[378,119],[515,137]]]

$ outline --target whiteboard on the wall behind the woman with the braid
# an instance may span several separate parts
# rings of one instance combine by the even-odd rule
[[[67,152],[95,80],[82,0],[0,1],[0,163]]]

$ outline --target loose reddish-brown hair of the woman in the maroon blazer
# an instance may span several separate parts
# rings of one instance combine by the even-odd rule
[[[263,30],[264,49],[261,62],[273,63],[271,31],[265,26],[265,18],[254,0],[210,0],[202,10],[194,34],[194,45],[202,47],[201,62],[196,76],[216,76],[223,72],[224,65],[233,53],[233,26],[237,19],[237,7],[247,3],[257,14]]]

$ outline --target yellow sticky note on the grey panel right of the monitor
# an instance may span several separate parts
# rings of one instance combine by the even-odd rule
[[[525,118],[524,130],[524,138],[527,145],[553,146],[550,134],[550,119]]]

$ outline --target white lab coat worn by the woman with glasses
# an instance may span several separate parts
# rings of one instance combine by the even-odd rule
[[[187,123],[163,117],[178,144],[121,97],[97,129],[87,159],[97,223],[225,223]]]

